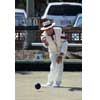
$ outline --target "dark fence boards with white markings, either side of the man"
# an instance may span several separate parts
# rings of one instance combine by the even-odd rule
[[[40,42],[40,34],[42,31],[39,30],[38,26],[16,26],[15,27],[15,46],[16,49],[23,49],[23,45],[25,42],[31,46],[31,43]],[[79,27],[70,27],[70,28],[63,28],[63,32],[67,34],[67,40],[69,43],[73,43],[73,46],[79,46],[79,44],[75,43],[82,43],[82,33],[81,28]],[[31,37],[28,37],[31,35]],[[36,45],[36,44],[35,44]],[[69,46],[72,46],[69,44]]]

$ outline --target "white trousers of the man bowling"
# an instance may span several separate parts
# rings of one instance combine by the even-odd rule
[[[62,81],[62,75],[63,75],[63,59],[62,63],[57,64],[56,58],[57,54],[50,53],[50,59],[51,59],[51,65],[50,65],[50,73],[48,75],[48,82],[49,83],[58,83],[60,84]]]

